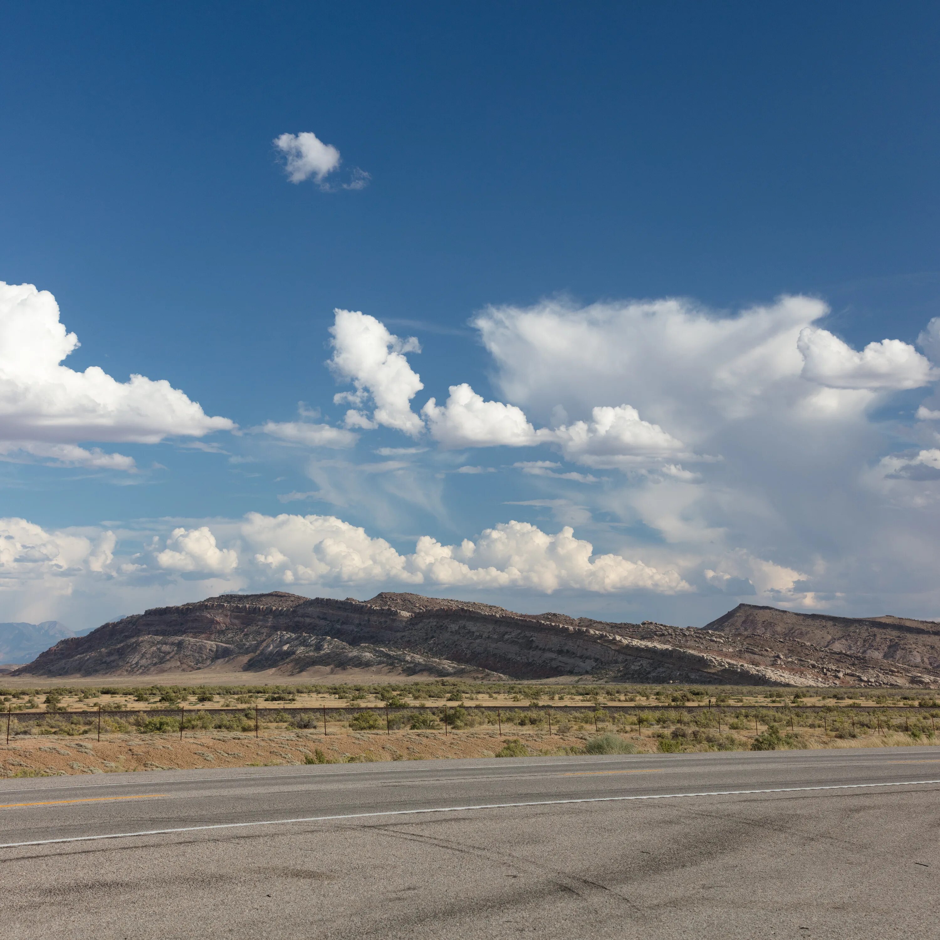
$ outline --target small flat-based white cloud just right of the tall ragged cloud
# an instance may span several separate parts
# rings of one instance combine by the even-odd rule
[[[525,413],[515,405],[484,401],[470,385],[450,386],[443,406],[434,399],[421,409],[431,437],[446,447],[523,447],[537,443]]]

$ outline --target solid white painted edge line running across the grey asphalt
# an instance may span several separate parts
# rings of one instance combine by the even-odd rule
[[[940,783],[940,780],[901,780],[897,783],[838,783],[819,787],[777,787],[773,790],[719,790],[703,793],[647,793],[636,796],[588,796],[572,800],[534,800],[527,803],[483,803],[474,807],[435,807],[430,809],[384,809],[371,813],[344,813],[338,816],[302,816],[291,820],[261,820],[255,823],[213,823],[180,826],[175,829],[147,829],[141,832],[115,832],[103,836],[72,836],[42,838],[32,842],[5,842],[0,849],[20,849],[28,845],[58,845],[62,842],[90,842],[101,838],[135,838],[169,836],[178,832],[202,832],[208,829],[240,829],[254,825],[287,825],[290,823],[328,823],[335,820],[370,819],[379,816],[413,816],[419,813],[459,813],[471,809],[512,809],[515,807],[556,807],[569,803],[617,803],[624,800],[673,800],[682,796],[744,796],[751,793],[796,793],[816,790],[865,790],[872,787],[917,787]]]

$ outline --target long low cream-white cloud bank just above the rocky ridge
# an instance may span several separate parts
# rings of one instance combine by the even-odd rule
[[[144,603],[154,603],[167,586],[192,581],[205,583],[196,593],[354,586],[525,587],[547,594],[690,589],[674,570],[594,554],[569,526],[550,534],[509,522],[460,545],[422,536],[414,552],[400,553],[336,516],[250,512],[241,521],[177,526],[133,551],[109,529],[50,531],[24,519],[0,519],[0,597],[10,616],[61,616],[64,599],[96,591],[136,590]]]

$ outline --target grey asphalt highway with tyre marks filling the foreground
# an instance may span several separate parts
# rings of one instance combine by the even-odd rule
[[[0,781],[10,937],[934,938],[940,750]]]

